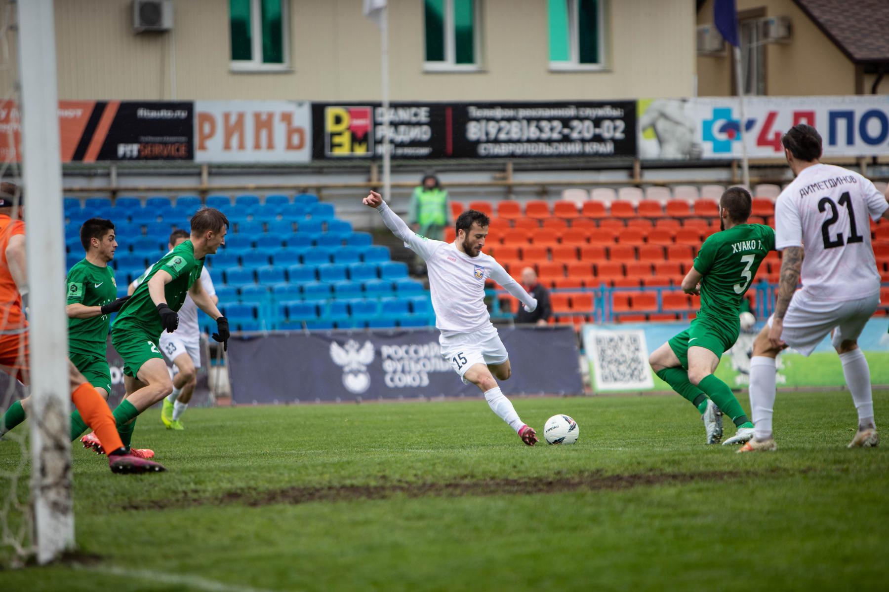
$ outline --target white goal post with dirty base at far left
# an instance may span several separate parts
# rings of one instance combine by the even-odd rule
[[[31,499],[36,558],[74,545],[68,320],[53,0],[18,0],[21,162],[28,253]]]

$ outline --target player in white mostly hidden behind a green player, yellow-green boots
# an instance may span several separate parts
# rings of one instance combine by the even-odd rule
[[[187,230],[177,229],[170,234],[170,242],[167,245],[170,250],[178,247],[180,243],[187,241]],[[151,271],[148,267],[145,273]],[[134,280],[127,292],[132,294],[142,278]],[[216,296],[216,288],[213,288],[213,280],[206,266],[201,270],[201,285],[213,301],[219,302]],[[161,334],[158,343],[166,359],[173,363],[172,393],[164,399],[161,407],[161,422],[168,430],[184,430],[180,417],[188,409],[188,401],[195,392],[197,384],[197,368],[201,367],[201,330],[197,326],[197,305],[191,296],[185,297],[182,308],[179,310],[179,327],[172,333]]]

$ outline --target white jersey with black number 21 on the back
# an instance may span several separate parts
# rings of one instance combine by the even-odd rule
[[[781,192],[775,249],[805,249],[800,280],[807,296],[838,301],[879,293],[868,218],[877,220],[887,207],[867,178],[832,164],[802,170]]]

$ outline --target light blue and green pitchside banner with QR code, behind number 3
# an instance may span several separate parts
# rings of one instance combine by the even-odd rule
[[[733,348],[726,351],[717,367],[717,377],[735,389],[746,389],[750,379],[750,356],[753,340],[763,323],[741,335]],[[687,323],[621,323],[619,325],[585,325],[583,344],[593,386],[596,391],[670,391],[669,384],[653,375],[648,366],[648,356],[666,343],[670,337],[688,328]],[[599,355],[603,334],[612,334],[607,355]],[[630,335],[644,334],[644,339],[630,339]],[[875,385],[889,384],[889,334],[886,333],[885,317],[874,317],[858,339],[870,367],[870,380]],[[643,381],[637,373],[639,359],[645,360],[648,377]],[[781,387],[843,386],[845,377],[837,352],[828,337],[818,345],[808,358],[793,349],[782,352],[777,358],[777,384]],[[621,384],[621,381],[625,384]],[[647,383],[647,385],[643,383]],[[601,385],[601,386],[600,386]]]

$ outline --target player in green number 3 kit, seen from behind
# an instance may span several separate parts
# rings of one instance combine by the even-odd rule
[[[732,418],[737,433],[727,444],[753,437],[753,423],[744,414],[732,389],[713,373],[722,354],[731,349],[741,330],[741,301],[759,264],[775,246],[770,226],[748,224],[752,200],[742,187],[730,187],[719,200],[719,227],[711,235],[685,279],[687,294],[701,295],[701,311],[691,327],[653,351],[648,359],[656,375],[692,402],[701,413],[707,443],[722,439],[722,414]]]

